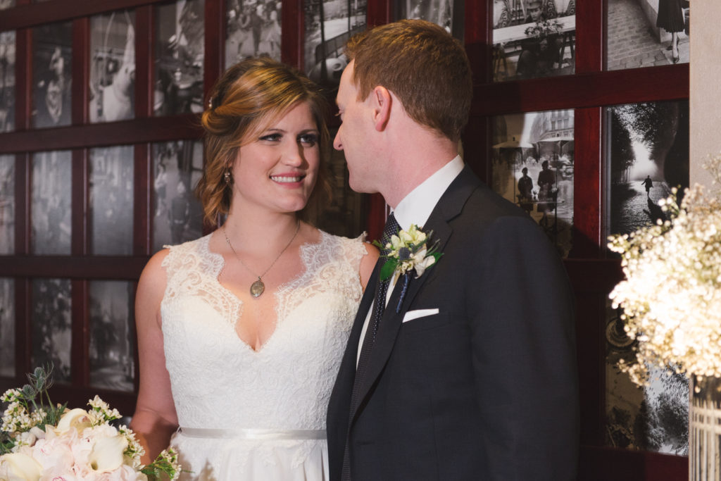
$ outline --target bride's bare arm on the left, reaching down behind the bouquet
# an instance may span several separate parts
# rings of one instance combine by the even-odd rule
[[[170,377],[165,368],[160,302],[167,278],[161,263],[167,255],[162,250],[151,257],[143,269],[136,293],[136,327],[140,388],[131,429],[146,450],[143,464],[148,464],[166,449],[177,429]]]

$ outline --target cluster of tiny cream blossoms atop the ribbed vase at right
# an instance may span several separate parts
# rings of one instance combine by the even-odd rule
[[[704,168],[721,182],[721,154]],[[609,237],[625,276],[609,297],[638,340],[636,359],[619,366],[637,384],[648,381],[648,365],[699,380],[721,376],[721,192],[694,185],[680,206],[672,192],[660,202],[668,219]]]

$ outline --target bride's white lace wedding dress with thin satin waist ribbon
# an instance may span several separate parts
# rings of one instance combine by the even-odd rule
[[[161,304],[165,359],[187,480],[327,480],[325,415],[361,300],[361,239],[321,233],[306,270],[276,294],[275,332],[236,334],[242,302],[218,282],[210,236],[170,248]]]

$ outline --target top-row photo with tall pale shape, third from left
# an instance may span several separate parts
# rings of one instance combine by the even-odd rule
[[[135,12],[121,10],[90,19],[91,122],[135,116]]]

